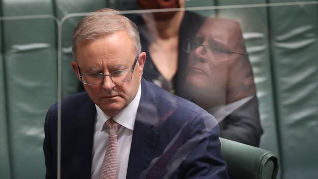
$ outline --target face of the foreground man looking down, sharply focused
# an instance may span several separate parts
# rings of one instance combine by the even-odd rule
[[[110,74],[113,71],[129,69],[136,58],[131,38],[125,31],[104,35],[95,41],[84,40],[77,46],[77,63],[81,73],[100,72]],[[138,56],[133,77],[125,82],[113,82],[105,76],[101,84],[84,85],[91,100],[107,115],[114,117],[136,96],[146,59],[144,52]],[[76,62],[72,67],[81,81]]]

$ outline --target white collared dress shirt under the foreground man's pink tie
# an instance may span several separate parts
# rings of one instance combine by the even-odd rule
[[[118,179],[126,179],[130,147],[133,139],[134,124],[141,96],[141,85],[131,103],[121,110],[114,121],[121,125],[117,133],[118,141]],[[108,132],[104,126],[110,118],[96,104],[96,120],[92,149],[91,179],[98,179],[106,151]]]

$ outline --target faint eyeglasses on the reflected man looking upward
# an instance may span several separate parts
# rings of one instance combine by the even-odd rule
[[[185,39],[183,42],[182,49],[184,52],[190,53],[192,50],[197,49],[200,46],[207,48],[205,45],[200,44],[196,41],[191,41],[190,39]],[[248,54],[232,52],[232,51],[229,51],[229,50],[226,50],[226,49],[220,48],[218,46],[214,46],[214,45],[209,45],[208,49],[210,49],[212,52],[216,52],[216,53],[233,53],[233,54],[249,56]]]

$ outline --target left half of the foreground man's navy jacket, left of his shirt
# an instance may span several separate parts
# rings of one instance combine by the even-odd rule
[[[95,105],[86,92],[73,94],[61,103],[61,178],[91,178]],[[45,117],[46,179],[56,179],[58,105]]]

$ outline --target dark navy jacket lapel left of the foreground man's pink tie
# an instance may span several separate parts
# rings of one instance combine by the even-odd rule
[[[74,123],[71,173],[76,179],[91,178],[91,156],[96,108],[91,99],[82,106]],[[76,136],[76,137],[75,137]]]

